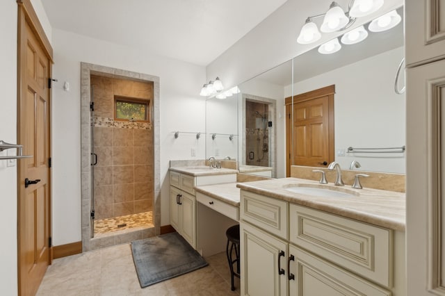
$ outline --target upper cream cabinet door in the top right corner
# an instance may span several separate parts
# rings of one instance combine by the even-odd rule
[[[405,0],[408,66],[445,58],[445,0]]]

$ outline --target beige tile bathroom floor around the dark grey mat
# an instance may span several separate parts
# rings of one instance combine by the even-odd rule
[[[140,288],[129,244],[56,259],[49,266],[38,296],[239,295],[230,290],[225,253],[206,258],[209,266]]]

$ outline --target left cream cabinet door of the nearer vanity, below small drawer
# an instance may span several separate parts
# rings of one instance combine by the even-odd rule
[[[245,222],[240,233],[241,295],[287,295],[287,243]]]

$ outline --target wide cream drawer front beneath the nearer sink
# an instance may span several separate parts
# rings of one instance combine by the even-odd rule
[[[392,231],[291,204],[289,235],[296,245],[392,286]]]

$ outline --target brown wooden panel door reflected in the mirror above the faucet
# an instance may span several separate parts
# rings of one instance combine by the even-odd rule
[[[330,85],[286,98],[286,176],[291,165],[327,167],[334,161],[334,92]]]

